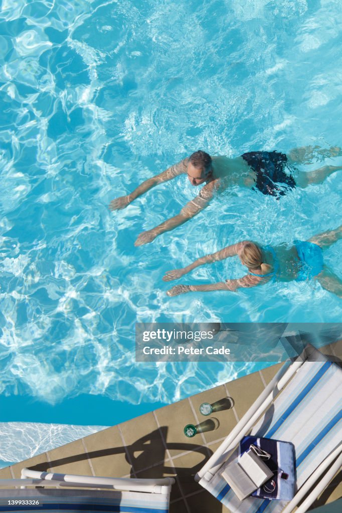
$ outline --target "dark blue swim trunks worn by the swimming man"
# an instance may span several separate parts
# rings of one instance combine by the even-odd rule
[[[255,188],[262,194],[283,196],[296,182],[289,171],[288,157],[279,151],[250,151],[242,159],[255,171]],[[285,172],[284,168],[287,168]]]

